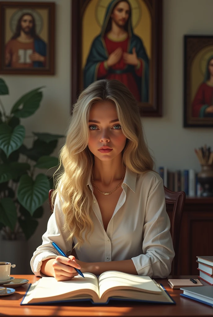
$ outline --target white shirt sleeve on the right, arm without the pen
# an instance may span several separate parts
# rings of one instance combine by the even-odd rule
[[[155,183],[155,182],[154,182]],[[138,275],[165,278],[175,256],[170,219],[166,212],[163,180],[157,180],[148,195],[143,226],[143,254],[132,261]]]

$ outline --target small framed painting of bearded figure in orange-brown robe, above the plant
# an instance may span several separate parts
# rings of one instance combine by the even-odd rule
[[[0,2],[0,74],[54,74],[55,3]]]

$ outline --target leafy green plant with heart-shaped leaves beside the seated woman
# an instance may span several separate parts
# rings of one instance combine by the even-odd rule
[[[37,219],[43,215],[42,205],[48,198],[50,188],[53,188],[52,176],[47,176],[46,171],[36,175],[36,169],[48,170],[58,165],[58,157],[50,155],[63,135],[32,132],[32,147],[27,148],[23,144],[25,128],[20,124],[21,118],[33,115],[39,108],[42,88],[24,94],[16,101],[9,114],[0,99],[1,257],[3,249],[10,247],[6,245],[7,242],[26,242],[34,234],[38,226]],[[0,78],[0,95],[7,94],[9,89]]]

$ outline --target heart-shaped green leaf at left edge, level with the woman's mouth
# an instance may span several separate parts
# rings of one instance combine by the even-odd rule
[[[24,126],[16,126],[14,130],[6,123],[0,124],[0,148],[7,158],[10,153],[16,151],[23,143],[25,137]]]

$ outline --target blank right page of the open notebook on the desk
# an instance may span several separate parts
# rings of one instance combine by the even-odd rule
[[[137,288],[147,293],[161,293],[161,290],[149,276],[132,275],[119,271],[107,271],[99,276],[98,281],[100,297],[110,288]]]

